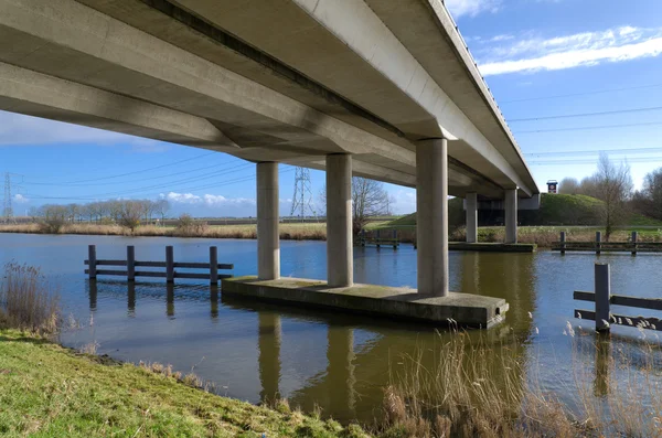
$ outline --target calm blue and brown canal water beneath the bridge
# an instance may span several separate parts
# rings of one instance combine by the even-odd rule
[[[222,395],[252,403],[279,395],[305,410],[319,406],[324,416],[340,420],[371,420],[402,357],[451,335],[388,319],[231,299],[193,280],[168,289],[162,280],[129,286],[109,277],[90,287],[83,274],[89,244],[97,245],[99,259],[126,258],[126,246],[135,245],[138,260],[164,260],[166,246],[173,245],[175,261],[205,261],[209,246],[216,245],[218,263],[234,264],[233,274],[239,276],[257,270],[255,241],[0,234],[0,265],[40,267],[58,289],[64,314],[78,321],[79,328],[63,333],[64,344],[96,342],[98,354],[172,364],[214,383]],[[567,329],[569,322],[592,342],[591,322],[573,319],[573,309],[591,303],[575,302],[573,291],[592,290],[598,259],[611,264],[613,293],[662,296],[662,258],[628,254],[451,252],[450,288],[505,298],[505,321],[470,335],[510,343],[535,367],[536,384],[572,405],[568,392],[577,380],[577,361],[585,364],[581,378],[595,380],[591,373],[599,367],[595,351],[576,349],[577,338]],[[324,279],[325,266],[325,243],[281,242],[282,276]],[[398,250],[355,248],[354,278],[415,288],[416,250],[407,245]],[[613,332],[619,344],[637,349],[639,331]]]

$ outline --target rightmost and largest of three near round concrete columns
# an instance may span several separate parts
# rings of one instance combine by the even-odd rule
[[[448,295],[448,145],[416,145],[416,241],[418,292]]]

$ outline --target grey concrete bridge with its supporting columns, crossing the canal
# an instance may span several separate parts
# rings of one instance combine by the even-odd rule
[[[257,167],[258,277],[279,277],[278,163],[327,170],[328,284],[353,284],[351,177],[417,189],[418,291],[448,296],[447,195],[538,190],[440,0],[0,0],[0,109]],[[530,201],[532,200],[532,201]]]

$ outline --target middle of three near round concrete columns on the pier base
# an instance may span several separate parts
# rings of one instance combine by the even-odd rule
[[[352,247],[352,157],[327,156],[327,280],[330,287],[354,282]]]

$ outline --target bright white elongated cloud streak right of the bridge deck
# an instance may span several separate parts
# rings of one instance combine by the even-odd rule
[[[495,36],[499,38],[500,35]],[[481,40],[474,51],[484,76],[517,72],[554,71],[607,62],[658,56],[662,53],[662,28],[621,26],[549,39],[526,38],[510,45],[485,44],[508,40]]]

